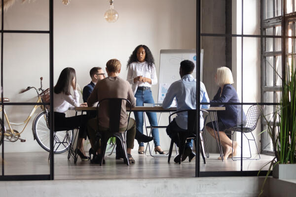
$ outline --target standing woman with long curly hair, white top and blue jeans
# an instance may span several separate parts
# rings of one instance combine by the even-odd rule
[[[157,84],[154,58],[146,45],[139,45],[135,48],[127,63],[127,81],[132,85],[135,94],[136,106],[144,106],[144,103],[154,103],[151,86]],[[157,126],[155,112],[146,112],[151,126]],[[134,112],[136,127],[143,133],[143,112]],[[158,129],[152,129],[154,137],[155,153],[165,154],[159,144]],[[139,143],[139,154],[144,154],[144,143]]]

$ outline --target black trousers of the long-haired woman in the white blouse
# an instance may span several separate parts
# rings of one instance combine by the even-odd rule
[[[74,130],[79,128],[79,138],[85,138],[88,136],[87,123],[88,116],[86,114],[67,117],[65,113],[54,112],[54,127],[65,128],[68,130]]]

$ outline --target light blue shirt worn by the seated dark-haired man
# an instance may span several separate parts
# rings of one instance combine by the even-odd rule
[[[209,102],[205,85],[200,82],[200,102]],[[196,79],[191,74],[186,74],[169,87],[168,92],[162,102],[162,107],[167,109],[171,106],[174,98],[177,102],[177,111],[186,109],[196,109]],[[200,108],[208,109],[210,105],[201,105]],[[203,117],[200,112],[200,130],[203,128]],[[187,129],[187,112],[177,114],[175,118],[177,125],[182,129]]]

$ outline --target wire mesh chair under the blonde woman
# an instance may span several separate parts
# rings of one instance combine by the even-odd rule
[[[258,146],[255,140],[255,137],[252,133],[252,131],[254,131],[257,127],[258,124],[258,120],[263,112],[264,109],[264,105],[252,105],[251,107],[249,107],[248,111],[247,111],[247,123],[246,126],[237,126],[237,127],[231,127],[228,128],[224,131],[231,131],[231,138],[233,139],[233,134],[234,132],[242,132],[244,134],[244,136],[247,138],[248,140],[248,144],[249,144],[249,150],[250,150],[250,157],[242,157],[245,160],[259,160],[260,159],[260,153],[258,150]],[[251,133],[252,134],[252,138],[248,138],[248,136],[246,135],[246,133]],[[259,159],[251,159],[252,158],[252,153],[251,153],[251,146],[250,146],[250,141],[254,141],[256,148],[257,148],[257,152],[259,155]],[[242,153],[241,153],[242,154]],[[232,140],[232,156],[231,159],[234,160],[240,160],[241,157],[233,157],[233,140]]]

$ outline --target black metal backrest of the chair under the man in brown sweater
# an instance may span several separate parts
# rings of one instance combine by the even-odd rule
[[[129,117],[132,111],[132,104],[128,99],[122,99],[122,98],[107,98],[102,99],[97,105],[97,113],[99,112],[99,105],[107,104],[108,105],[108,116],[109,116],[109,130],[111,132],[119,132],[119,123],[120,123],[120,113],[121,113],[121,104],[123,101],[126,101],[129,104],[129,112],[128,119],[127,119],[127,125],[129,122]],[[99,123],[99,119],[97,116],[97,122]]]

